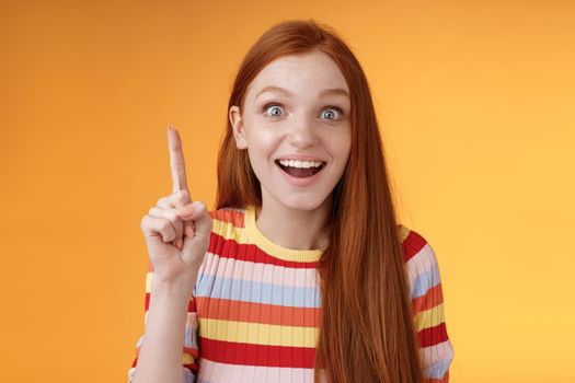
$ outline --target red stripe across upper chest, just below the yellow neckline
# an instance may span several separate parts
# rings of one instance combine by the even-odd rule
[[[269,264],[290,268],[315,268],[317,262],[283,260],[271,256],[255,244],[239,244],[235,240],[225,239],[215,232],[210,233],[208,252],[222,258]]]

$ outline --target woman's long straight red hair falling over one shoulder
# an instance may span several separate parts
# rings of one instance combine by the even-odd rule
[[[330,26],[287,21],[250,48],[233,83],[228,111],[243,112],[248,85],[271,61],[320,50],[338,66],[350,92],[352,149],[333,190],[330,245],[319,262],[322,324],[315,383],[423,382],[418,340],[392,188],[366,76]],[[261,186],[248,152],[238,150],[228,118],[218,155],[216,209],[262,207]]]

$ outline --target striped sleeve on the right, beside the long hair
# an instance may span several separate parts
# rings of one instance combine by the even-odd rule
[[[429,243],[403,230],[403,256],[426,383],[448,383],[453,347],[447,334],[439,266]]]

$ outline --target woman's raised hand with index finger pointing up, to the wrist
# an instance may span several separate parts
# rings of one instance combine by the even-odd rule
[[[172,194],[158,200],[140,222],[154,280],[164,283],[195,282],[209,245],[211,217],[202,201],[192,201],[187,187],[182,140],[168,128]],[[188,286],[192,288],[193,286]]]

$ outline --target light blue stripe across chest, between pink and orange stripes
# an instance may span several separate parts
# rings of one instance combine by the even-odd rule
[[[230,299],[233,301],[290,307],[320,307],[321,305],[320,292],[317,288],[262,283],[211,275],[198,277],[196,297]]]

